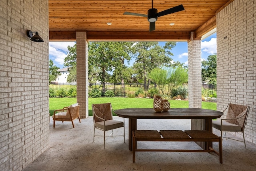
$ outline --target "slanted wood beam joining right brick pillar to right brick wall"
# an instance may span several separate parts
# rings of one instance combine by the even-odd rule
[[[216,28],[217,21],[216,21],[216,15],[213,16],[210,20],[202,24],[200,27],[198,27],[195,30],[195,39],[194,40],[201,40],[201,37],[206,34],[207,32],[210,32],[212,29]]]

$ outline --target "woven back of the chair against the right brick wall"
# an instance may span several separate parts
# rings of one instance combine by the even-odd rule
[[[244,113],[246,114],[244,115]],[[236,105],[236,104],[230,103],[228,107],[228,113],[227,113],[226,119],[232,119],[232,118],[240,117],[242,115],[244,116],[239,119],[232,119],[232,120],[226,120],[226,121],[229,123],[239,125],[240,127],[244,127],[244,123],[247,118],[246,117],[247,113],[248,113],[248,106]]]

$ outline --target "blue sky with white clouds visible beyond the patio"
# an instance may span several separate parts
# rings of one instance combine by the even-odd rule
[[[49,58],[54,65],[63,68],[64,58],[67,56],[68,45],[74,46],[75,42],[49,42]],[[165,42],[159,42],[160,46],[164,46]],[[216,33],[208,36],[201,41],[202,60],[206,60],[209,55],[216,54]],[[172,48],[172,59],[188,65],[188,43],[176,42],[176,46]],[[131,62],[132,63],[132,62]]]

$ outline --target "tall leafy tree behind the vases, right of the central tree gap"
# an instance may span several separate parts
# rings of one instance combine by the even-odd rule
[[[144,89],[148,89],[150,79],[148,73],[156,67],[170,66],[172,64],[173,54],[170,50],[176,45],[176,42],[166,42],[164,47],[158,45],[158,42],[136,42],[133,46],[135,63],[133,65],[136,73],[144,80]]]

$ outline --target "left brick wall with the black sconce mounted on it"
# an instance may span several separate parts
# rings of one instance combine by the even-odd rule
[[[48,1],[1,0],[0,30],[0,170],[22,170],[49,146]]]

